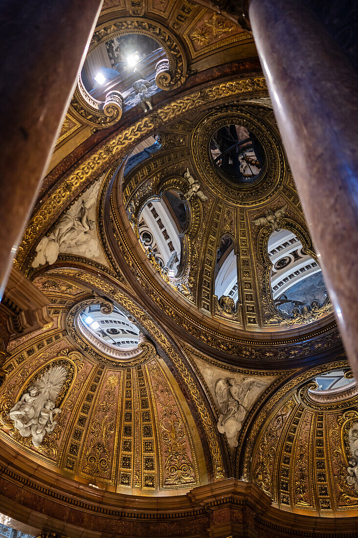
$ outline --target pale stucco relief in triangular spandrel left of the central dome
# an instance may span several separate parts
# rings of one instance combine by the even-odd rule
[[[54,264],[60,252],[72,251],[87,258],[100,255],[95,223],[95,203],[99,188],[100,182],[97,181],[60,218],[52,233],[40,240],[32,267]]]

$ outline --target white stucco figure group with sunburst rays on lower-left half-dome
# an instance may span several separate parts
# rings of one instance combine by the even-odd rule
[[[32,444],[39,447],[46,433],[57,425],[54,415],[61,413],[55,401],[66,379],[63,366],[53,366],[25,392],[10,409],[8,416],[22,437],[32,436]]]

